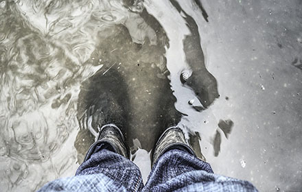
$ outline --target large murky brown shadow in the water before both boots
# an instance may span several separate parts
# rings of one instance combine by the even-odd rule
[[[163,44],[159,45],[132,43],[128,30],[120,25],[112,29],[111,36],[100,41],[91,58],[102,58],[104,67],[82,83],[78,99],[81,130],[75,147],[79,158],[89,148],[84,143],[91,143],[84,139],[88,138],[85,134],[91,134],[90,122],[95,131],[97,125],[116,123],[135,152],[134,139],[139,139],[141,147],[150,151],[159,135],[181,120],[167,78],[170,73],[161,69],[165,65],[165,49]]]

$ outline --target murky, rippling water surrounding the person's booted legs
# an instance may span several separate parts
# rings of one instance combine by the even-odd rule
[[[156,137],[178,124],[216,173],[300,191],[301,10],[298,0],[1,1],[1,191],[73,176],[112,117],[124,117],[115,123],[145,181]]]

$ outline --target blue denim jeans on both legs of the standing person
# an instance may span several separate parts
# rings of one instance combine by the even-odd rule
[[[106,144],[104,144],[106,145]],[[154,164],[146,185],[132,161],[99,147],[75,176],[45,184],[39,191],[257,191],[253,184],[213,173],[209,163],[170,149]]]

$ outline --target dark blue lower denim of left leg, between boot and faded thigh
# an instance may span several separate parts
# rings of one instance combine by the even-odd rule
[[[106,149],[106,147],[95,151],[88,160],[85,160],[75,175],[82,176],[97,173],[103,173],[114,180],[116,184],[124,186],[127,191],[141,191],[143,188],[139,167],[124,156]]]

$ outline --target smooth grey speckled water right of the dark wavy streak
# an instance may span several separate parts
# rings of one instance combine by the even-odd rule
[[[220,155],[209,159],[213,169],[260,191],[301,191],[301,1],[204,5],[202,45],[221,95],[211,110],[234,122]]]

